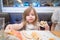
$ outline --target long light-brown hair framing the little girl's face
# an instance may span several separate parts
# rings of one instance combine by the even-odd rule
[[[38,22],[38,15],[37,15],[35,9],[34,9],[33,7],[28,7],[28,8],[24,11],[24,13],[23,13],[23,22],[24,22],[24,24],[27,23],[27,22],[26,22],[26,16],[31,12],[31,10],[33,10],[33,12],[34,12],[34,14],[35,14],[35,20],[34,20],[33,24],[36,24],[36,23]]]

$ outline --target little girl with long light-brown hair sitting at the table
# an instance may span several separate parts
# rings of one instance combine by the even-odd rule
[[[40,23],[38,22],[38,15],[33,7],[27,8],[23,13],[23,19],[20,24],[9,24],[5,32],[9,32],[10,30],[39,30]],[[9,30],[9,31],[8,31]]]

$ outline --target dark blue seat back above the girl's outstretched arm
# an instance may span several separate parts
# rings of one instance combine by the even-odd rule
[[[22,20],[22,13],[9,13],[10,24],[20,23]]]

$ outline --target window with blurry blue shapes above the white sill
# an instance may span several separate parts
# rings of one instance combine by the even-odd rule
[[[60,6],[60,0],[3,0],[4,7],[46,7],[46,6]]]

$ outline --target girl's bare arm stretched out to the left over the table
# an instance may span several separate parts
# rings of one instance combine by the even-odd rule
[[[7,25],[5,32],[8,33],[11,30],[19,30],[23,27],[23,23],[20,24],[9,24]]]

